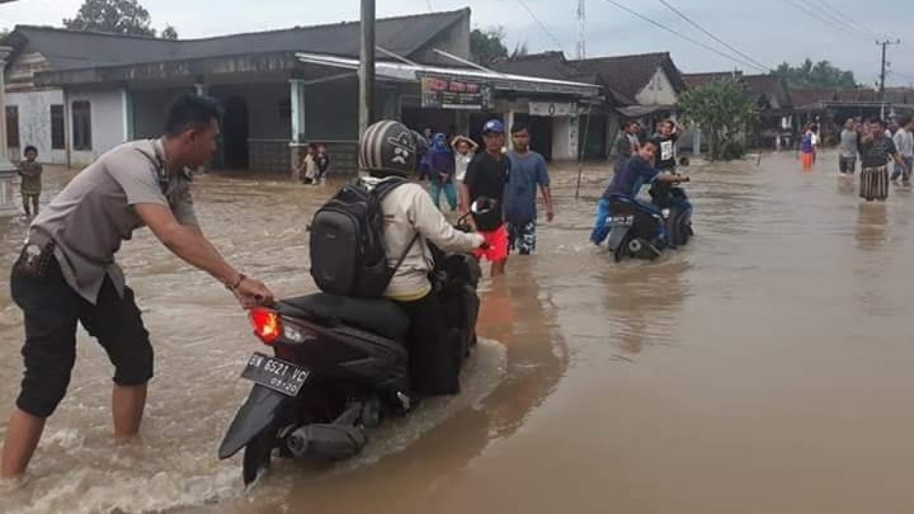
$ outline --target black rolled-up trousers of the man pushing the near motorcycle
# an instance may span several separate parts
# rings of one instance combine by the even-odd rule
[[[51,259],[39,276],[13,266],[10,290],[23,310],[26,370],[16,406],[46,418],[63,400],[76,360],[76,324],[96,337],[114,365],[114,383],[142,385],[153,378],[153,347],[140,309],[127,287],[117,294],[111,279],[101,286],[96,305],[74,291]]]

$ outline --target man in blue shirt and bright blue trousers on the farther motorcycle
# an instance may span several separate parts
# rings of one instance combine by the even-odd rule
[[[632,158],[622,166],[622,171],[612,176],[610,186],[603,191],[600,197],[600,203],[597,207],[597,219],[594,221],[593,231],[590,232],[590,241],[594,244],[600,244],[607,236],[610,235],[610,227],[607,220],[610,217],[610,202],[613,197],[631,198],[644,209],[656,210],[654,205],[638,199],[638,192],[645,184],[654,183],[654,181],[675,183],[683,180],[683,177],[672,173],[663,173],[661,170],[651,166],[654,157],[657,155],[657,142],[654,140],[645,141],[638,153],[632,155]]]

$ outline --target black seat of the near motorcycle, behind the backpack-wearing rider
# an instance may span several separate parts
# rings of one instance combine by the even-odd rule
[[[385,298],[353,298],[315,293],[285,298],[276,311],[283,316],[300,316],[325,325],[345,325],[367,330],[397,341],[406,339],[409,316]]]

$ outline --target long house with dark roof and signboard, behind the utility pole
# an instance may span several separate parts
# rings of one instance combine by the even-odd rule
[[[592,84],[468,68],[470,16],[377,20],[377,117],[466,131],[510,115],[519,99],[577,105],[599,93]],[[313,141],[328,145],[336,171],[356,167],[357,22],[175,41],[16,27],[9,42],[7,124],[16,125],[18,145],[37,145],[49,162],[84,165],[122,141],[154,137],[164,106],[196,91],[225,107],[215,167],[288,171]],[[450,89],[426,91],[442,83]],[[577,137],[570,132],[566,146]]]

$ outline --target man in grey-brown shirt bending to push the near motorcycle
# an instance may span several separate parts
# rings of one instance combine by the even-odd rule
[[[153,348],[114,254],[148,226],[165,247],[211,274],[242,306],[270,303],[264,284],[233,268],[197,225],[190,173],[216,149],[221,108],[188,94],[169,109],[160,139],[113,148],[83,169],[32,222],[10,289],[25,314],[25,373],[6,425],[0,476],[21,476],[45,420],[63,399],[76,359],[77,322],[114,365],[114,436],[137,434]]]

